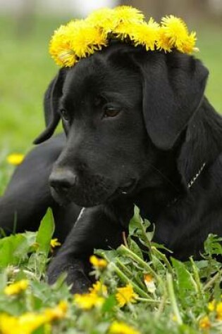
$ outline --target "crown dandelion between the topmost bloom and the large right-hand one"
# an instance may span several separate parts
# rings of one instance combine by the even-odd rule
[[[132,39],[135,46],[142,45],[146,50],[154,51],[156,40],[159,36],[159,25],[150,18],[148,23],[135,25],[132,33]]]

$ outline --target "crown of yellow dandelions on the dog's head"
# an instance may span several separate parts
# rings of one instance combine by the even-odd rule
[[[144,15],[131,6],[114,9],[101,8],[85,20],[73,20],[61,25],[51,37],[49,53],[61,67],[71,67],[81,58],[109,46],[112,39],[134,46],[143,46],[147,51],[178,49],[182,53],[197,51],[195,32],[188,32],[187,25],[173,15],[156,23],[148,22]]]

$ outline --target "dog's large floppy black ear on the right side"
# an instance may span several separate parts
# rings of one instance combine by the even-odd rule
[[[202,102],[208,70],[178,51],[149,53],[139,66],[147,133],[156,147],[169,150]]]

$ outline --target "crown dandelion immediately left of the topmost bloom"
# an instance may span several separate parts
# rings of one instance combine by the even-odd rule
[[[101,27],[106,34],[115,29],[118,25],[118,20],[115,18],[114,11],[111,8],[99,8],[92,12],[86,21],[94,25],[94,27]]]

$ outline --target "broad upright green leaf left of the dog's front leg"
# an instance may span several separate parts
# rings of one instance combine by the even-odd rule
[[[54,233],[54,219],[51,209],[47,210],[37,231],[36,243],[38,252],[43,252],[46,257],[49,255],[50,241]]]

